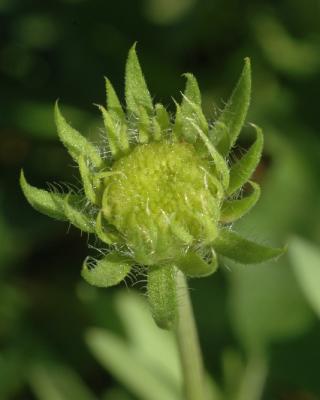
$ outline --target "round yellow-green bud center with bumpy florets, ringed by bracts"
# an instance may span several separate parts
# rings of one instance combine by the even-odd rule
[[[103,213],[137,261],[166,262],[217,234],[219,196],[213,166],[188,143],[138,145],[105,179]]]

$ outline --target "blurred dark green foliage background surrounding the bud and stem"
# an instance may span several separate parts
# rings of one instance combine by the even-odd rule
[[[212,399],[320,399],[319,0],[0,0],[0,399],[182,399],[172,338],[143,297],[83,282],[88,237],[36,213],[18,185],[22,167],[36,186],[77,184],[54,101],[99,134],[92,104],[104,76],[122,95],[136,40],[155,99],[173,110],[193,72],[213,119],[252,60],[262,198],[237,227],[289,250],[190,282]]]

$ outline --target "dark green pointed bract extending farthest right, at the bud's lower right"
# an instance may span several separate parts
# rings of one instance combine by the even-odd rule
[[[267,247],[243,238],[229,229],[221,229],[213,242],[217,253],[242,264],[257,264],[281,256],[285,248]]]

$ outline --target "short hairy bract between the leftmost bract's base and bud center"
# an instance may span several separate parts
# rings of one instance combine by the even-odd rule
[[[81,203],[81,198],[67,195],[63,204],[65,215],[69,222],[76,228],[83,232],[93,233],[95,230],[95,221],[87,214]]]

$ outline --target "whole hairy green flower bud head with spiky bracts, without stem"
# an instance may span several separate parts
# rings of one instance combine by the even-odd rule
[[[213,125],[202,112],[195,77],[188,73],[185,78],[182,102],[172,117],[162,104],[153,104],[133,46],[126,65],[126,109],[109,80],[107,105],[98,106],[107,145],[90,143],[55,106],[58,135],[79,167],[83,194],[37,189],[23,172],[20,180],[36,210],[69,221],[108,245],[103,258],[85,260],[82,276],[89,283],[112,286],[133,267],[147,270],[152,312],[165,328],[176,318],[177,269],[202,277],[217,269],[219,255],[247,264],[283,251],[231,230],[260,196],[259,185],[250,181],[263,147],[257,126],[252,125],[256,139],[247,153],[236,162],[229,159],[249,106],[249,59]],[[250,191],[242,197],[246,184]]]

